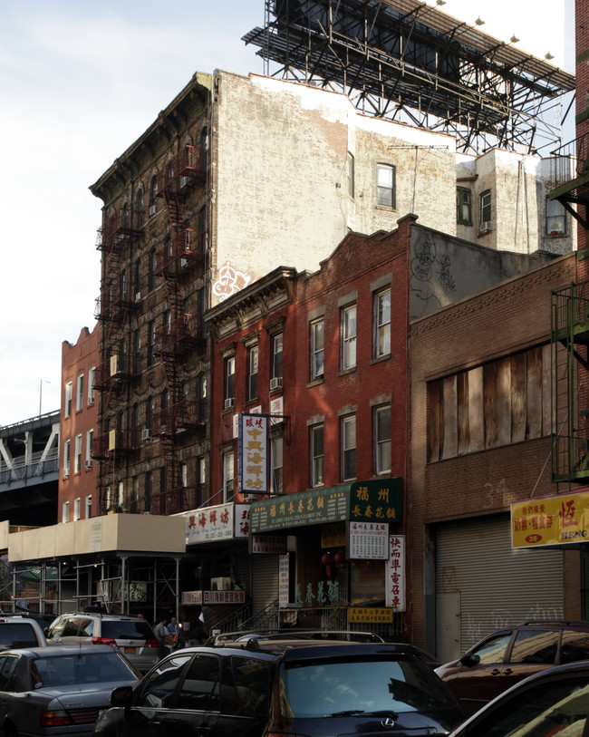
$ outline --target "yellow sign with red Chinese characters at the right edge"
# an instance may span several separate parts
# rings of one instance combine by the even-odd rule
[[[589,491],[517,501],[511,505],[513,548],[589,542]]]

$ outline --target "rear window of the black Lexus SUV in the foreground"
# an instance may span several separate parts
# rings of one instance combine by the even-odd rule
[[[281,666],[281,713],[434,712],[456,704],[417,657],[324,659]]]

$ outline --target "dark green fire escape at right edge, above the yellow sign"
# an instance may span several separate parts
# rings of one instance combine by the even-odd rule
[[[552,295],[552,478],[589,479],[589,285],[571,284]]]

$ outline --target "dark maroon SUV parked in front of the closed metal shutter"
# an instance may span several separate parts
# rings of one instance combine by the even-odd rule
[[[524,622],[488,635],[436,673],[466,715],[528,675],[589,658],[589,622]]]

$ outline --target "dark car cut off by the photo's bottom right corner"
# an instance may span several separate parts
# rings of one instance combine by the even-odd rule
[[[497,696],[451,737],[585,737],[589,662],[557,665]]]

